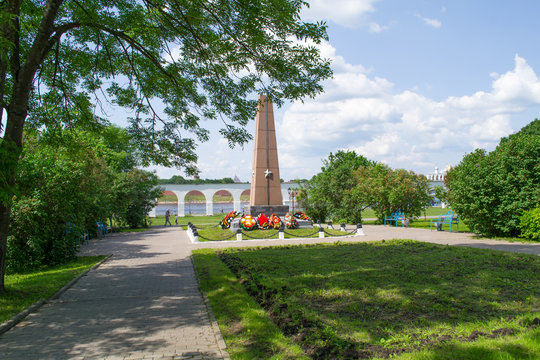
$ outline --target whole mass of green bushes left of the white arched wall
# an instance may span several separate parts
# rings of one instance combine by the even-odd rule
[[[119,139],[123,130],[111,127]],[[109,139],[110,140],[110,139]],[[154,174],[127,169],[128,142],[106,142],[82,131],[28,135],[12,201],[7,269],[10,272],[73,259],[80,235],[114,217],[137,227],[159,196]],[[70,223],[70,225],[68,225]]]

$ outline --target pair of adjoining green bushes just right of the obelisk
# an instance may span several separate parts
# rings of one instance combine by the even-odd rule
[[[330,154],[322,171],[300,188],[300,204],[309,216],[322,221],[332,214],[335,219],[358,223],[368,208],[381,221],[398,209],[407,216],[419,216],[431,203],[423,175],[393,170],[354,152]]]

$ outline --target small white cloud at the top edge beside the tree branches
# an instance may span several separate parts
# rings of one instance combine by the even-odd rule
[[[378,0],[312,0],[309,7],[302,10],[302,18],[307,20],[331,20],[347,28],[367,26],[370,32],[386,30],[374,22],[366,21],[367,15],[375,11]]]

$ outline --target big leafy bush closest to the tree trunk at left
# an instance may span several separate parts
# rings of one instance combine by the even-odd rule
[[[11,210],[10,272],[74,259],[78,231],[66,231],[66,224],[88,228],[89,222],[104,215],[106,165],[84,144],[72,140],[68,148],[50,139],[26,138],[17,174],[19,195]]]

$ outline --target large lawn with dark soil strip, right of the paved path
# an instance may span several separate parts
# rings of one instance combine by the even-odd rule
[[[538,256],[393,240],[193,258],[233,359],[540,358]]]

